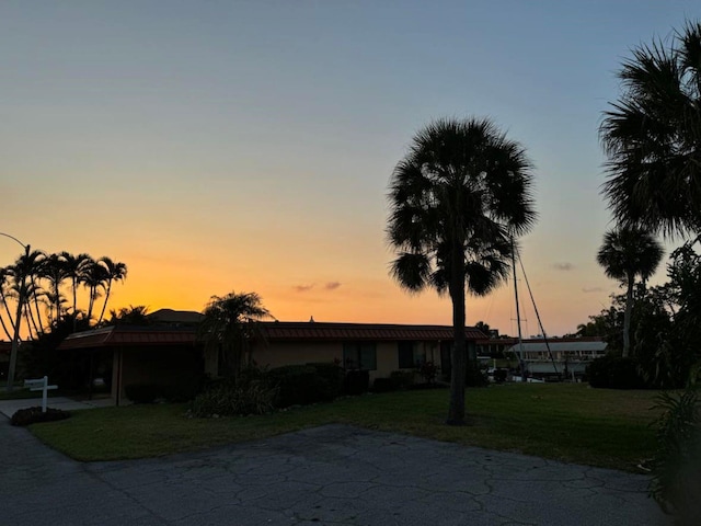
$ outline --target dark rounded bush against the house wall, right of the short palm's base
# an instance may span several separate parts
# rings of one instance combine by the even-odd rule
[[[276,367],[268,371],[267,381],[277,388],[278,408],[329,402],[338,395],[336,382],[320,376],[311,365]]]

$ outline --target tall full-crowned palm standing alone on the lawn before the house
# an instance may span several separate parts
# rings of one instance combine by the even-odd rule
[[[508,275],[510,237],[536,220],[524,148],[489,119],[439,119],[421,129],[390,179],[391,275],[410,291],[452,300],[448,424],[464,423],[466,285],[485,295]]]

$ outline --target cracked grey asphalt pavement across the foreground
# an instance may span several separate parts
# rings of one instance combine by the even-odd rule
[[[0,460],[25,526],[671,524],[644,476],[346,425],[82,464],[0,422]]]

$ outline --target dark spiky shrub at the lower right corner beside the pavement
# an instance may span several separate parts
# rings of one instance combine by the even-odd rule
[[[698,524],[701,516],[700,402],[694,389],[657,397],[656,408],[664,413],[655,422],[657,449],[650,493],[681,525]]]

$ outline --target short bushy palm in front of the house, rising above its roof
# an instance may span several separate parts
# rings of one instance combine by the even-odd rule
[[[219,353],[232,376],[241,370],[249,342],[258,334],[256,322],[272,318],[255,293],[230,293],[212,296],[203,312],[199,339],[207,352]]]

